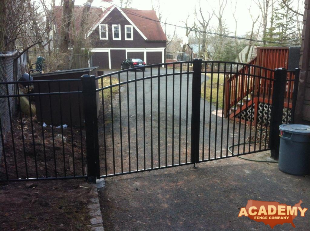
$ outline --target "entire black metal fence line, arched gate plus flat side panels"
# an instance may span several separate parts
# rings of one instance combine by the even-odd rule
[[[148,65],[144,72],[138,69],[81,79],[25,81],[23,92],[17,81],[0,83],[0,181],[88,178],[95,182],[264,150],[277,156],[283,96],[286,83],[293,81],[287,79],[286,70],[200,59]],[[298,81],[298,70],[294,74]],[[73,83],[77,90],[72,90]],[[229,105],[229,114],[235,115],[225,118],[227,102],[240,92],[245,99],[238,102],[240,106]],[[251,102],[253,96],[267,101],[268,110],[260,116],[270,118],[270,123],[253,122],[252,112],[258,107]],[[30,104],[30,115],[22,112],[24,99],[36,99],[37,117]],[[294,104],[295,100],[293,108]],[[42,110],[50,114],[48,125]],[[60,124],[53,121],[55,115],[60,116]],[[78,118],[76,124],[73,118]]]

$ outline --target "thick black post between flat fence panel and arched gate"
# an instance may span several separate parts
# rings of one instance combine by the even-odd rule
[[[94,99],[94,96],[96,96],[95,76],[82,75],[82,87],[86,133],[87,179],[90,183],[96,183],[97,165],[99,163],[96,164],[98,148],[95,145],[98,141],[98,132],[95,134],[95,130],[98,129],[95,128],[97,125],[97,105],[96,99]]]

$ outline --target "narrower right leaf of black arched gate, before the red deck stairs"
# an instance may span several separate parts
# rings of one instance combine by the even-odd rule
[[[249,64],[208,61],[203,62],[202,68],[199,162],[269,150],[269,126],[259,124],[255,118],[259,117],[259,99],[271,102],[272,85],[266,82],[272,81],[274,71]],[[244,71],[238,73],[240,69]],[[266,91],[260,94],[262,84]],[[236,103],[229,105],[233,101]]]

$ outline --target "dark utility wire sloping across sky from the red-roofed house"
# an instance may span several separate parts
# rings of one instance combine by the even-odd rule
[[[114,6],[117,6],[117,5],[113,4],[113,3],[111,3],[111,4],[114,5]],[[120,6],[117,6],[117,7],[121,8]],[[108,8],[106,8],[106,10],[107,11],[111,11],[111,9],[108,10]],[[124,9],[124,10],[126,11],[126,9]],[[130,9],[128,9],[128,10],[130,10]],[[148,20],[151,20],[151,21],[154,21],[154,22],[158,22],[158,23],[162,23],[162,24],[166,24],[166,25],[170,25],[170,26],[174,26],[174,27],[190,29],[189,27],[180,26],[180,25],[176,25],[176,24],[171,24],[171,23],[167,23],[167,22],[162,22],[162,21],[159,21],[159,20],[151,19],[151,18],[145,17],[143,15],[139,15],[137,13],[132,13],[132,12],[126,11],[126,14],[134,15],[134,16],[137,16],[137,17],[140,17],[140,18],[148,19]],[[205,33],[205,34],[211,34],[211,35],[218,35],[218,36],[227,37],[227,38],[233,38],[233,39],[243,39],[243,40],[254,41],[254,42],[266,42],[266,43],[274,43],[274,44],[282,44],[282,45],[300,45],[300,44],[296,44],[296,43],[273,42],[273,41],[249,39],[249,38],[238,37],[238,36],[231,36],[231,35],[223,35],[223,34],[219,34],[219,33],[215,33],[215,32],[202,31],[202,30],[195,29],[195,28],[192,31],[196,31],[196,32],[199,32],[199,33]]]

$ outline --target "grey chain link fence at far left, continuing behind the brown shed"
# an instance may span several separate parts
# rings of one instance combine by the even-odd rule
[[[20,77],[31,69],[31,64],[37,62],[37,57],[44,58],[43,71],[45,73],[66,70],[78,69],[92,66],[91,55],[68,54],[64,53],[49,53],[27,51],[19,58],[17,51],[10,51],[5,54],[0,54],[0,82],[18,81]],[[33,68],[35,66],[33,65]],[[0,84],[0,164],[2,160],[3,144],[6,142],[6,136],[10,135],[12,116],[15,115],[17,108],[17,97],[3,97],[7,95],[18,94],[18,84]]]

